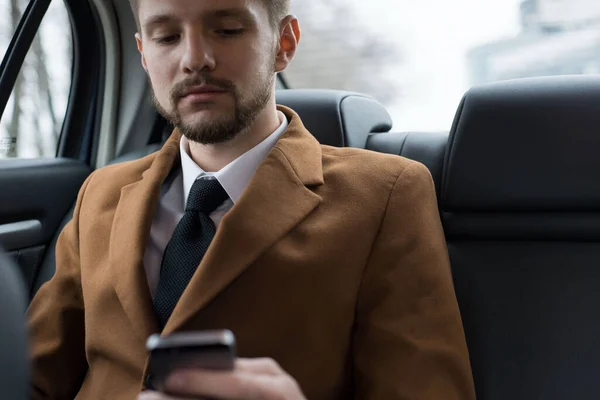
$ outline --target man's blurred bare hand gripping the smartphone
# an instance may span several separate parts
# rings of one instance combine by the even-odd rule
[[[271,359],[240,359],[230,372],[179,371],[167,379],[166,389],[188,399],[306,400],[296,381]],[[176,398],[144,392],[138,400]]]

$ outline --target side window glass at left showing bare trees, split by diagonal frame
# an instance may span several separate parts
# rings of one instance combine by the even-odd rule
[[[0,0],[0,56],[28,1]],[[67,109],[73,62],[71,25],[52,1],[0,120],[0,159],[54,157]]]

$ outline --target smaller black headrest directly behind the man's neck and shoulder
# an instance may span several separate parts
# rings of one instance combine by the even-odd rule
[[[321,144],[365,148],[372,133],[388,132],[392,119],[372,97],[337,90],[278,90],[277,104],[294,110]]]

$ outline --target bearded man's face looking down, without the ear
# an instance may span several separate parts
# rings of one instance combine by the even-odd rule
[[[140,0],[138,47],[158,111],[188,139],[229,141],[274,91],[278,32],[262,0]]]

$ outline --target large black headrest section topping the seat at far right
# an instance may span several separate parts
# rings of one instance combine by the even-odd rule
[[[452,127],[444,211],[600,209],[600,77],[470,90]]]

